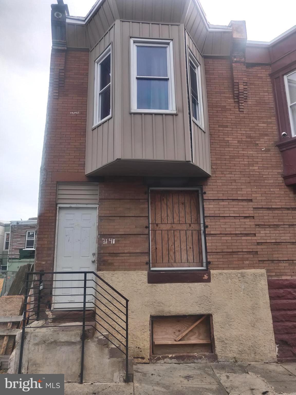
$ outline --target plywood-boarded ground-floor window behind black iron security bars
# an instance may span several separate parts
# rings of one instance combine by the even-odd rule
[[[151,269],[206,266],[200,190],[150,189]]]

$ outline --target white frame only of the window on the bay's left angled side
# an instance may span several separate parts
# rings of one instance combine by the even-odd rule
[[[100,83],[100,64],[110,55],[110,83],[106,85],[101,92],[99,91],[99,83]],[[107,87],[110,86],[110,115],[107,117],[100,119],[101,117],[101,100],[100,93],[102,93]],[[112,43],[99,55],[99,57],[95,60],[95,81],[94,81],[94,126],[96,128],[101,123],[107,121],[112,117]]]

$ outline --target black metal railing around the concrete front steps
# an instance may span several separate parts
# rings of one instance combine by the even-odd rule
[[[29,276],[34,275],[31,283]],[[32,278],[32,277],[31,277]],[[51,318],[47,315],[51,312]],[[54,317],[52,317],[54,315]],[[39,328],[82,327],[81,372],[83,382],[84,341],[86,327],[92,327],[120,350],[128,373],[128,299],[103,278],[92,271],[33,272],[27,273],[22,322],[19,374],[26,329],[32,322],[45,320]],[[73,321],[74,320],[74,321]],[[73,322],[73,325],[68,323]]]

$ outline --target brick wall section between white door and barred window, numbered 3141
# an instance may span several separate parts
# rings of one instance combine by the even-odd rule
[[[98,270],[148,269],[147,191],[140,177],[111,178],[100,184]]]

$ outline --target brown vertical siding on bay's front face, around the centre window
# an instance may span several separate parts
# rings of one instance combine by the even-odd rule
[[[182,25],[121,21],[122,37],[122,158],[190,160],[184,32]],[[131,37],[172,39],[178,114],[130,113]]]

